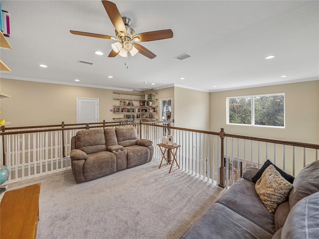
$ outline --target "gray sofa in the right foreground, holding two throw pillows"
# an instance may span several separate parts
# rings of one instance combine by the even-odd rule
[[[302,169],[287,201],[270,213],[248,168],[182,239],[318,239],[319,160]]]

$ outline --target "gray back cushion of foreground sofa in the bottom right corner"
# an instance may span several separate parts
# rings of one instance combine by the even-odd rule
[[[281,238],[315,239],[319,237],[319,192],[296,203],[291,209]]]

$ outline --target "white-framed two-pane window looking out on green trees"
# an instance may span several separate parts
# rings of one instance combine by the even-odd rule
[[[227,124],[285,127],[285,94],[228,97]]]

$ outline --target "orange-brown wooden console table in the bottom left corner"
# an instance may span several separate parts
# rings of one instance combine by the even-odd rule
[[[35,239],[40,183],[6,191],[0,205],[0,238]]]

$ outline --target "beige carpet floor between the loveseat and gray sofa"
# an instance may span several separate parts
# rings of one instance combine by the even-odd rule
[[[71,169],[41,183],[37,239],[178,239],[225,192],[160,161],[76,184]]]

